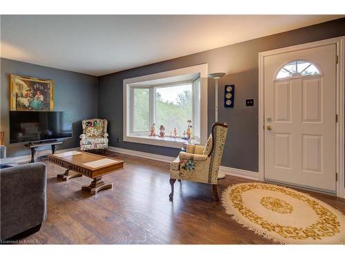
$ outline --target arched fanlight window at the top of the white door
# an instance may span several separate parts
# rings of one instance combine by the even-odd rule
[[[321,75],[319,69],[309,61],[294,60],[284,65],[277,73],[276,79]]]

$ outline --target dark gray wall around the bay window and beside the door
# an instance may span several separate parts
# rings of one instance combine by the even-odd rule
[[[253,28],[255,29],[255,28]],[[166,70],[208,63],[208,72],[226,72],[219,81],[219,121],[228,122],[230,131],[226,141],[224,166],[258,171],[258,53],[265,50],[304,44],[345,35],[345,19],[337,19],[297,30],[245,41],[168,61],[133,68],[99,77],[99,117],[109,120],[110,146],[128,148],[160,155],[175,156],[176,148],[122,142],[123,90],[122,80]],[[235,84],[235,107],[224,108],[222,95],[225,84]],[[253,97],[255,106],[246,107],[244,100]],[[214,121],[214,81],[208,80],[208,125]],[[116,138],[120,142],[116,142]]]

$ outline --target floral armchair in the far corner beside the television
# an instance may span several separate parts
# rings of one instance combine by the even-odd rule
[[[84,119],[83,134],[80,135],[80,150],[103,149],[108,151],[108,133],[106,119]]]

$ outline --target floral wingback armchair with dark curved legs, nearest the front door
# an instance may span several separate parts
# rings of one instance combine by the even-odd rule
[[[170,164],[170,199],[174,196],[176,180],[188,180],[213,184],[213,193],[215,198],[219,200],[217,191],[218,171],[227,132],[228,125],[226,123],[216,122],[212,126],[206,146],[188,144],[186,152],[179,153],[179,156]]]

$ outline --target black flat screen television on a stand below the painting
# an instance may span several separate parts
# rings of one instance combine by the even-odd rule
[[[10,143],[40,142],[72,137],[72,113],[10,111]]]

